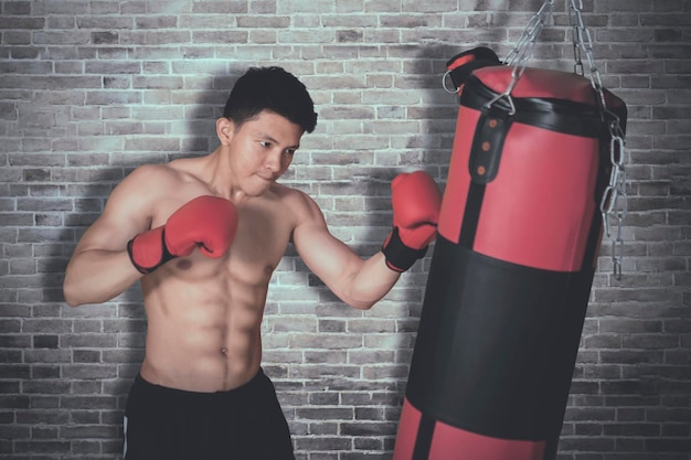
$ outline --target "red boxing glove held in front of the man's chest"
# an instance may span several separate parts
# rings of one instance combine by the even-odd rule
[[[206,257],[222,257],[237,232],[237,211],[228,200],[198,196],[183,204],[166,222],[135,236],[127,244],[129,258],[142,274],[150,274],[168,260],[189,256],[199,247]]]

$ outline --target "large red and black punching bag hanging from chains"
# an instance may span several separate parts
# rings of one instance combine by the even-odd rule
[[[626,106],[577,74],[517,82],[489,49],[448,68],[459,110],[393,459],[553,459]]]

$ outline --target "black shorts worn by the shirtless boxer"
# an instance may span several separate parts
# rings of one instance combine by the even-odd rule
[[[137,376],[125,410],[126,460],[294,460],[276,389],[259,373],[230,392],[192,393]]]

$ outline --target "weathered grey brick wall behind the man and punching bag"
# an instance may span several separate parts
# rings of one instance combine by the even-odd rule
[[[213,149],[213,119],[247,66],[279,64],[311,89],[319,126],[285,182],[369,255],[389,231],[391,178],[446,175],[446,60],[478,44],[506,55],[540,3],[0,1],[0,457],[118,457],[140,293],[70,309],[64,267],[132,168]],[[570,68],[555,9],[534,65]],[[584,9],[605,86],[629,106],[630,213],[621,281],[603,246],[559,457],[689,459],[691,1]],[[428,264],[362,313],[286,255],[265,367],[300,460],[391,457]]]

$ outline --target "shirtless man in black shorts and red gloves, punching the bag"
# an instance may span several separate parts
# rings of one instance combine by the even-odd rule
[[[126,409],[127,460],[294,459],[259,334],[288,244],[339,298],[369,309],[436,235],[440,194],[416,172],[394,180],[381,253],[362,259],[334,238],[310,197],[276,182],[316,122],[295,76],[251,68],[216,121],[220,147],[136,169],[75,248],[70,306],[141,282],[148,331]]]

